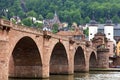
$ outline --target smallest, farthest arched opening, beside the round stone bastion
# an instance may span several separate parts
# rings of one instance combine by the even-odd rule
[[[89,60],[89,68],[97,68],[97,59],[96,59],[96,55],[94,52],[91,53],[90,55],[90,60]]]

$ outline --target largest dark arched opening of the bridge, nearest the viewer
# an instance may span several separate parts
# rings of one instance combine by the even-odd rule
[[[9,61],[9,77],[38,78],[42,62],[37,45],[30,37],[23,37],[13,49]]]

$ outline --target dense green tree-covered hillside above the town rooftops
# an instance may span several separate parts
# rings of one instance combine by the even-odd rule
[[[0,10],[1,17],[22,20],[28,16],[50,19],[56,11],[60,21],[69,24],[88,23],[93,14],[100,23],[108,16],[114,23],[120,22],[120,0],[0,0]]]

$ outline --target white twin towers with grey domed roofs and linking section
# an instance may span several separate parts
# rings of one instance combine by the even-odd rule
[[[111,20],[107,20],[105,24],[97,24],[95,20],[91,20],[89,25],[89,41],[94,38],[94,35],[97,32],[104,33],[109,41],[113,41],[114,44],[116,44],[116,41],[114,40],[114,24]]]

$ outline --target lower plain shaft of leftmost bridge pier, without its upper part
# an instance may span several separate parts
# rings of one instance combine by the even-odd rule
[[[8,80],[8,42],[0,40],[0,80]]]

